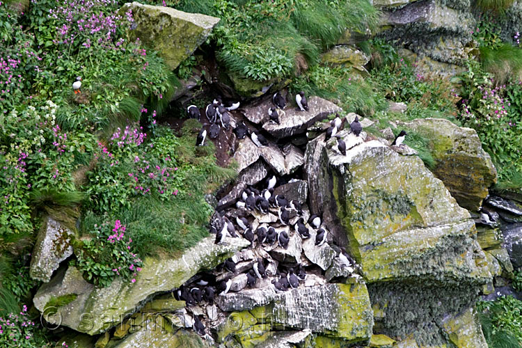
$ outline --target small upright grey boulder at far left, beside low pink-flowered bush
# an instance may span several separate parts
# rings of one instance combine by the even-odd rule
[[[74,232],[52,216],[45,216],[36,237],[29,275],[47,283],[60,266],[60,262],[72,255]]]

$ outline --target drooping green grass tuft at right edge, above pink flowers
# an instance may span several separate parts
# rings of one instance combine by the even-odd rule
[[[505,43],[497,49],[480,47],[480,61],[484,70],[495,75],[497,84],[522,77],[522,49],[511,44]]]

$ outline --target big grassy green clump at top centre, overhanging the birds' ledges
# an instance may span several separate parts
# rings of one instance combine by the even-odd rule
[[[161,5],[163,1],[147,1]],[[347,29],[374,30],[379,13],[367,0],[173,0],[167,6],[221,18],[212,33],[216,57],[239,78],[291,77],[298,56],[309,65]]]

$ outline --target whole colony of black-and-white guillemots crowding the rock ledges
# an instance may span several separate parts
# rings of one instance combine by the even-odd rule
[[[299,110],[308,111],[308,102],[306,100],[305,93],[300,92],[295,96],[295,101]],[[273,107],[269,108],[269,122],[280,124],[280,115],[285,114],[285,106],[287,104],[285,97],[280,92],[277,92],[272,97]],[[208,104],[205,108],[205,116],[210,123],[209,131],[203,127],[196,139],[196,146],[205,145],[205,139],[207,134],[210,139],[216,139],[221,132],[221,128],[229,129],[230,127],[230,111],[238,109],[239,102],[223,102],[221,97],[216,97],[212,104]],[[200,120],[201,114],[197,106],[191,105],[187,108],[190,118],[196,118]],[[331,138],[337,139],[337,150],[342,155],[346,155],[346,143],[341,139],[338,134],[342,129],[343,122],[341,118],[337,117],[330,122],[330,127],[326,129],[325,141]],[[363,127],[358,120],[355,118],[350,124],[350,129],[353,134],[359,136]],[[262,147],[268,144],[267,139],[258,132],[258,130],[250,131],[244,122],[237,124],[237,127],[233,129],[237,139],[244,139],[249,135],[258,147]],[[404,141],[406,132],[402,131],[395,138],[392,145],[401,145]],[[291,182],[292,180],[290,180]],[[318,215],[312,215],[305,221],[303,218],[303,209],[301,204],[296,200],[287,200],[285,196],[280,194],[274,194],[274,189],[277,184],[283,184],[278,180],[276,175],[272,175],[266,180],[266,186],[264,189],[256,189],[255,187],[248,187],[244,189],[241,197],[235,203],[235,207],[244,211],[244,215],[248,213],[255,214],[269,214],[272,212],[277,214],[278,223],[282,227],[289,226],[293,228],[296,235],[299,235],[301,239],[309,239],[310,229],[315,230],[315,246],[320,247],[326,242],[326,236],[328,231],[322,228],[322,217]],[[277,212],[277,213],[276,213]],[[290,222],[291,217],[299,216],[299,219],[295,223]],[[237,216],[235,221],[230,221],[226,216],[221,216],[218,219],[214,219],[210,226],[210,232],[216,235],[215,243],[222,244],[226,242],[226,238],[237,238],[243,237],[251,243],[251,248],[255,246],[255,243],[259,247],[269,246],[274,247],[278,245],[280,248],[286,249],[290,242],[290,236],[285,229],[276,230],[272,226],[254,228],[251,223],[244,216]],[[295,221],[295,219],[292,219]],[[237,228],[236,228],[236,226]],[[337,248],[338,255],[336,256],[343,267],[347,267],[350,274],[354,270],[360,270],[360,266],[356,264],[355,260],[346,252],[345,248]],[[232,276],[236,275],[237,269],[236,264],[238,260],[234,256],[228,258],[223,262],[220,267],[230,272],[230,276],[226,276],[223,280],[217,281],[216,276],[213,274],[202,274],[200,278],[193,283],[182,285],[180,288],[175,289],[173,295],[175,299],[179,301],[186,301],[188,306],[195,306],[198,303],[214,303],[214,298],[218,294],[227,294],[232,286]],[[282,269],[276,269],[276,278],[272,280],[271,285],[274,287],[275,292],[285,292],[287,290],[294,289],[299,286],[299,283],[306,279],[306,270],[302,264],[297,264],[296,267],[280,267]],[[354,274],[358,277],[357,274]],[[246,287],[255,287],[258,279],[267,278],[267,260],[264,258],[258,258],[254,260],[253,267],[246,271]],[[205,335],[205,326],[202,322],[202,315],[194,315],[193,317],[193,329],[199,335]]]

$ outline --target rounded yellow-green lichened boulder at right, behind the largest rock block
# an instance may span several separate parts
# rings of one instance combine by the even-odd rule
[[[457,203],[466,209],[479,209],[488,188],[496,183],[497,172],[477,132],[441,118],[413,120],[404,126],[429,139],[435,159],[433,173]]]

